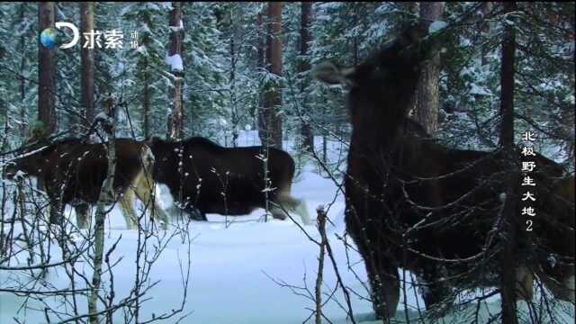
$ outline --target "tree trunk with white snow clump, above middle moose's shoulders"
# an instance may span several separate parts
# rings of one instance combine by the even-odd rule
[[[182,61],[182,41],[184,40],[184,30],[181,28],[182,23],[182,10],[181,3],[172,3],[172,11],[170,12],[170,47],[168,49],[168,57],[172,57],[177,61]],[[172,74],[175,76],[173,79],[172,90],[172,109],[170,116],[168,116],[168,138],[169,139],[182,139],[184,133],[184,111],[182,109],[182,87],[184,84],[184,67],[175,67],[172,65]]]

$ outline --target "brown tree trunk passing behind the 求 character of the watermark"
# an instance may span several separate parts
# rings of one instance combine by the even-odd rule
[[[80,32],[94,30],[94,3],[80,3]],[[86,127],[94,121],[94,49],[82,47],[80,52],[82,105]]]

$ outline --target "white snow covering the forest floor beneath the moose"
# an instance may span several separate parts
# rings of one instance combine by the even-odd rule
[[[255,145],[246,136],[240,143]],[[289,147],[290,145],[287,145]],[[336,148],[334,144],[330,148]],[[293,195],[307,202],[308,211],[315,219],[315,208],[320,204],[333,202],[329,208],[328,216],[331,224],[328,225],[328,235],[338,269],[344,284],[356,293],[351,293],[351,303],[356,315],[356,321],[375,323],[371,303],[368,302],[367,292],[361,281],[366,280],[364,265],[361,258],[351,249],[346,250],[344,244],[337,238],[345,230],[344,200],[338,193],[337,185],[328,178],[318,175],[314,170],[316,166],[309,164],[297,182],[293,185]],[[166,187],[160,188],[160,203],[168,208],[171,197]],[[69,211],[72,215],[73,212]],[[296,294],[289,287],[279,283],[293,286],[304,286],[313,293],[317,268],[319,247],[312,243],[292,220],[262,221],[263,210],[257,210],[247,216],[223,217],[208,215],[208,222],[192,221],[188,232],[193,238],[191,245],[192,272],[190,284],[186,293],[186,303],[183,314],[190,315],[182,323],[217,323],[217,324],[293,324],[302,323],[311,315],[314,302],[306,297]],[[298,220],[295,218],[295,220]],[[229,222],[231,221],[231,223]],[[319,239],[320,235],[314,224],[303,226],[312,238]],[[171,227],[166,232],[172,232]],[[136,270],[136,249],[138,247],[138,231],[125,229],[124,220],[120,210],[114,208],[106,221],[105,249],[120,238],[116,249],[111,254],[112,260],[119,260],[113,269],[116,298],[126,296],[132,288]],[[152,242],[150,242],[152,244]],[[348,252],[348,255],[347,255]],[[157,259],[150,273],[150,282],[158,283],[147,293],[149,298],[143,302],[141,319],[149,319],[155,314],[177,309],[182,302],[184,289],[181,275],[181,262],[187,262],[188,245],[183,244],[180,237],[172,238],[166,249]],[[356,275],[348,269],[347,260],[352,265]],[[56,260],[54,260],[56,262]],[[11,264],[14,266],[14,264]],[[82,266],[82,265],[80,265]],[[85,266],[86,274],[91,270]],[[0,271],[0,287],[6,287],[13,275],[23,276],[23,273],[14,274]],[[108,281],[104,275],[104,281]],[[50,271],[48,277],[50,284],[58,288],[69,288],[67,276],[62,269]],[[360,279],[360,280],[358,280]],[[104,284],[105,286],[106,284]],[[324,293],[331,293],[337,285],[336,275],[327,258],[324,267]],[[77,288],[77,287],[76,287]],[[423,305],[421,298],[413,289],[407,290],[407,305],[401,301],[399,305],[398,320],[405,319],[404,307],[410,310],[410,317],[417,315],[414,308]],[[327,296],[324,295],[324,300]],[[25,323],[46,322],[42,311],[20,309],[23,297],[13,294],[0,293],[0,323],[12,323],[13,318]],[[44,302],[58,305],[58,300],[48,297]],[[85,305],[84,300],[78,301]],[[519,302],[521,309],[526,309],[526,303]],[[323,311],[325,316],[336,324],[349,323],[347,313],[341,308],[346,305],[341,290],[328,302]],[[43,309],[40,302],[29,302],[29,307]],[[63,307],[63,306],[61,306]],[[85,306],[84,306],[85,307]],[[498,311],[499,300],[492,298],[486,310],[482,310],[482,319],[487,321],[490,313]],[[475,305],[471,311],[475,310]],[[569,315],[564,316],[566,322],[573,319],[573,307]],[[121,312],[117,312],[119,322]],[[167,323],[174,323],[176,316]],[[308,322],[313,322],[309,320]],[[328,322],[328,321],[326,321]],[[451,316],[446,323],[466,322]],[[483,320],[481,320],[483,322]]]

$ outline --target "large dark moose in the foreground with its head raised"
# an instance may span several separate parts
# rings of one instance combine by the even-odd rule
[[[347,232],[365,260],[374,311],[384,320],[397,310],[399,267],[415,272],[426,286],[427,309],[454,287],[498,285],[497,274],[506,271],[499,268],[494,229],[506,199],[502,175],[510,165],[519,166],[501,149],[446,148],[410,127],[410,99],[437,47],[433,36],[425,26],[412,25],[356,67],[324,62],[313,69],[320,81],[348,90],[353,127],[345,178]],[[515,214],[518,295],[531,298],[538,275],[556,298],[573,302],[574,176],[539,154],[534,160],[533,231],[526,230],[519,207]]]

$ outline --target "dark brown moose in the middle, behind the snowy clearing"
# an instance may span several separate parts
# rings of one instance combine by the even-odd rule
[[[224,148],[201,137],[153,137],[148,146],[156,157],[154,180],[166,184],[194,220],[207,220],[206,213],[233,216],[266,208],[267,191],[275,219],[284,220],[285,211],[294,211],[309,223],[305,203],[291,195],[293,158],[281,149],[269,148],[266,185],[262,147]]]

